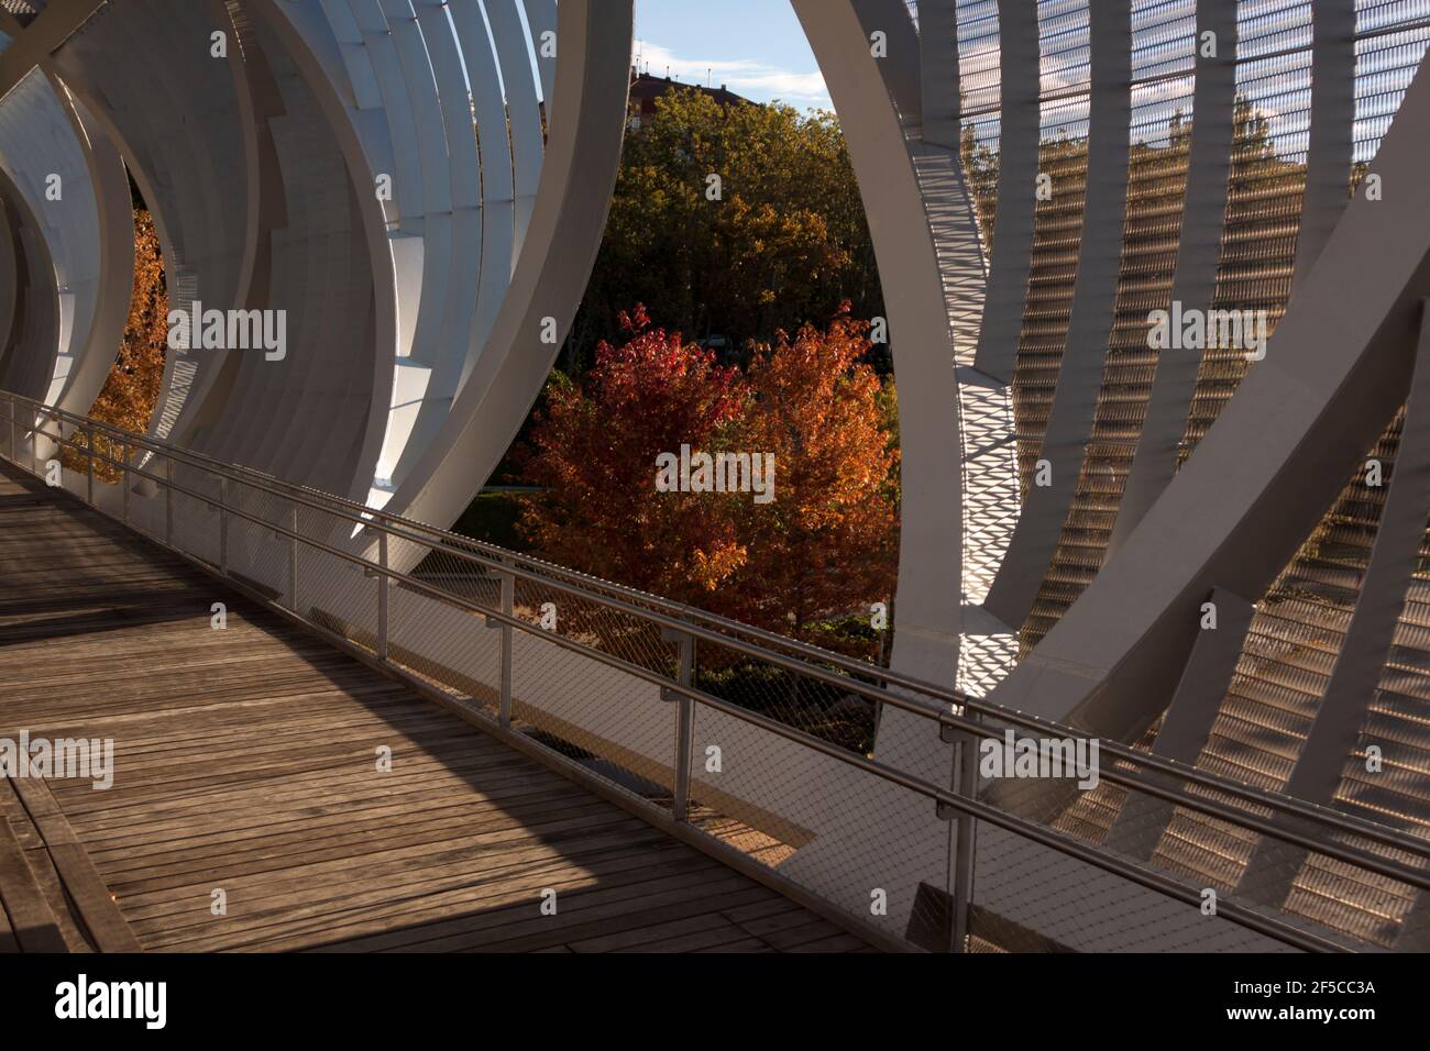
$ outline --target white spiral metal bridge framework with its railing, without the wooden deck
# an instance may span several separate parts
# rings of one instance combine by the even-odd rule
[[[579,302],[628,1],[4,4],[0,448],[895,942],[1424,948],[1430,3],[792,1],[889,313],[887,672],[433,529]],[[116,459],[126,169],[170,305],[292,350],[179,347]]]

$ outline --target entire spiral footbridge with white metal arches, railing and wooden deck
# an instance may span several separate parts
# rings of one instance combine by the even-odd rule
[[[116,754],[0,794],[16,947],[1430,948],[1430,1],[791,3],[899,392],[888,668],[449,532],[631,0],[0,1],[0,738]],[[143,433],[134,190],[194,319]]]

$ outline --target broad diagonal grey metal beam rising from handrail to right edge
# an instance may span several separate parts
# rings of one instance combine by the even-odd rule
[[[1430,295],[1426,122],[1421,67],[1377,157],[1404,190],[1350,203],[1266,360],[992,699],[1128,739],[1171,695],[1211,588],[1260,595],[1286,565],[1404,399]]]

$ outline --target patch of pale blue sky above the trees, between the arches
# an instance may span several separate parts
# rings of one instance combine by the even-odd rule
[[[752,102],[834,109],[788,0],[636,0],[635,51],[676,80],[725,84]]]

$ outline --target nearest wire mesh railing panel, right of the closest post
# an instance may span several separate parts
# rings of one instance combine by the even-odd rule
[[[1130,766],[1115,762],[1113,769]],[[1085,951],[1244,951],[1266,939],[1256,924],[1294,931],[1323,947],[1394,944],[1417,901],[1414,887],[1364,862],[1321,857],[1293,841],[1297,832],[1311,835],[1313,842],[1324,839],[1324,829],[1316,832],[1314,822],[1177,778],[1158,775],[1155,782],[1216,812],[1107,779],[1095,781],[1088,791],[1040,779],[985,789],[984,801],[998,804],[1007,814],[1038,819],[1050,829],[1097,847],[1103,858],[1163,881],[1158,888],[1128,892],[1121,887],[1127,879],[1078,875],[1077,882],[1068,884],[1077,892],[1064,895],[1078,908],[1052,917],[1045,909],[1054,884],[1031,874],[1042,864],[1034,862],[1037,845],[1015,849],[994,831],[991,842],[1001,845],[988,849],[982,838],[988,825],[981,824],[975,885],[982,887],[977,881],[991,867],[988,878],[997,881],[997,889],[990,894],[1002,902],[1000,915],[1012,924],[1007,929],[1021,927],[1047,937],[1061,931],[1058,945]],[[1407,869],[1419,865],[1426,871],[1423,858],[1386,848],[1373,837],[1337,834],[1333,841],[1367,859],[1381,858]],[[1057,878],[1072,879],[1088,868],[1087,862],[1072,865],[1072,861],[1061,865]],[[1015,865],[1028,865],[1030,875],[1012,877]],[[1022,897],[1011,894],[1010,879],[1022,887]],[[1178,902],[1177,891],[1185,912],[1153,907],[1154,898]],[[1125,909],[1117,905],[1121,895],[1127,895]],[[982,902],[982,907],[994,905]],[[1243,917],[1237,921],[1240,934],[1228,932],[1226,924],[1185,922],[1188,915],[1226,918],[1228,909]],[[987,932],[984,937],[992,938]]]

